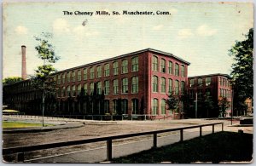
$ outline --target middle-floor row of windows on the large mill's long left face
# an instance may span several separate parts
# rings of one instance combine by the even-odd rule
[[[102,87],[102,82],[97,82],[97,83],[84,83],[83,86],[83,91],[84,95],[85,94],[93,94],[96,90],[96,94],[102,94],[102,91],[104,92],[105,95],[109,94],[109,89],[112,87],[113,89],[113,94],[119,94],[119,80],[114,79],[112,81],[112,84],[110,85],[110,81],[106,80],[103,82],[103,87]],[[121,79],[121,94],[128,94],[128,86],[129,86],[129,81],[128,78],[123,78]],[[88,87],[89,86],[89,87]],[[89,88],[89,89],[88,89]],[[57,89],[57,97],[66,97],[66,96],[76,96],[81,94],[82,92],[82,85],[73,85],[73,86],[67,86],[62,87],[61,89]],[[132,94],[137,94],[138,93],[138,77],[131,77],[131,93]]]

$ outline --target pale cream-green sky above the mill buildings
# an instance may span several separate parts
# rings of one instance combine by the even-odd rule
[[[154,15],[125,15],[123,10]],[[189,61],[189,76],[230,74],[229,49],[252,27],[252,3],[4,3],[3,78],[21,76],[21,45],[26,45],[28,75],[43,65],[34,49],[34,36],[42,32],[53,33],[51,43],[61,57],[54,65],[58,71],[151,48]]]

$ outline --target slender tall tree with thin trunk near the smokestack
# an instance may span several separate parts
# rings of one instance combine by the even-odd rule
[[[45,109],[45,99],[48,95],[55,94],[55,80],[52,73],[56,72],[54,64],[60,59],[59,56],[55,55],[55,48],[50,43],[52,34],[48,32],[43,32],[40,37],[35,37],[38,41],[38,45],[35,49],[38,52],[38,58],[44,60],[43,66],[38,66],[35,70],[35,77],[32,77],[32,82],[35,88],[41,89],[42,94],[42,113],[43,113],[43,126],[44,126],[44,109]]]

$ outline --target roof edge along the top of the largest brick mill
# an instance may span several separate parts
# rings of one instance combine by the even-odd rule
[[[159,54],[165,54],[165,55],[168,55],[168,56],[172,56],[173,58],[175,58],[177,60],[180,60],[180,61],[182,61],[183,63],[185,63],[187,65],[190,65],[190,63],[188,61],[183,60],[181,58],[178,58],[177,56],[175,56],[171,53],[166,53],[166,52],[163,52],[163,51],[160,51],[160,50],[157,50],[157,49],[148,48],[148,49],[141,49],[141,50],[131,52],[131,53],[128,53],[128,54],[121,54],[121,55],[118,55],[118,56],[115,56],[115,57],[112,57],[112,58],[108,58],[108,59],[105,59],[105,60],[98,60],[96,62],[91,62],[89,64],[85,64],[85,65],[82,65],[82,66],[75,66],[75,67],[72,67],[72,68],[64,69],[64,70],[61,70],[59,72],[55,72],[54,74],[57,74],[57,73],[60,73],[60,72],[73,71],[75,69],[83,68],[83,67],[86,67],[86,66],[94,66],[94,65],[102,63],[102,62],[106,62],[106,61],[110,61],[110,60],[117,60],[119,58],[124,58],[124,57],[130,56],[130,55],[133,55],[133,54],[140,54],[140,53],[143,53],[143,52],[146,52],[146,51],[151,51],[151,52],[154,52],[154,53],[159,53]]]

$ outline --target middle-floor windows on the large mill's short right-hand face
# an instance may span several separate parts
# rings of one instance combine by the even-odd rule
[[[174,89],[174,94],[179,94],[179,87],[181,88],[181,93],[185,92],[185,82],[175,80],[174,87],[172,84],[172,79],[169,78],[168,80],[168,88],[167,93],[172,94],[172,90]],[[152,77],[152,92],[159,92],[159,78],[157,76]],[[160,93],[166,93],[166,78],[160,77]]]

